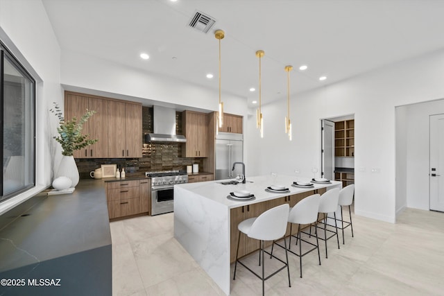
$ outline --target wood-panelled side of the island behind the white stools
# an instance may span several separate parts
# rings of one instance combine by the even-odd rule
[[[298,193],[294,195],[284,196],[283,198],[276,198],[274,200],[268,200],[266,202],[259,202],[257,204],[250,204],[244,207],[237,207],[230,209],[230,262],[236,261],[236,250],[237,250],[237,241],[239,238],[239,229],[237,225],[242,221],[257,217],[260,214],[264,213],[267,209],[271,209],[273,207],[278,207],[281,204],[288,203],[290,207],[294,207],[300,200],[307,198],[309,195],[319,193],[325,193],[326,189],[316,189],[314,191],[307,191],[303,193]],[[295,227],[296,226],[296,227]],[[301,225],[301,227],[307,227],[307,225]],[[298,233],[298,225],[293,225],[292,233]],[[287,233],[285,236],[290,235],[290,227],[287,226]],[[265,242],[266,246],[271,245],[272,242]],[[239,243],[239,258],[241,256],[245,256],[246,254],[250,254],[255,250],[259,249],[259,241],[248,238],[245,234],[241,233],[241,239]]]

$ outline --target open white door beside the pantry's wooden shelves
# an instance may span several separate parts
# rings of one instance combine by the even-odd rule
[[[334,122],[322,121],[322,177],[334,180]]]

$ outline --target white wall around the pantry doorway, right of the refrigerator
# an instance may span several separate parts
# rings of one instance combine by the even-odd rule
[[[289,174],[297,166],[312,177],[321,159],[320,119],[355,114],[355,213],[395,222],[395,106],[444,97],[443,76],[438,51],[292,96],[292,142],[284,134],[285,101],[264,105],[265,138],[258,132],[248,138],[248,157],[263,159],[253,173]]]

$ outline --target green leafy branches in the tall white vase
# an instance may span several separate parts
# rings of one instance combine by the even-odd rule
[[[49,111],[58,117],[58,137],[53,137],[62,145],[62,155],[71,156],[75,150],[85,148],[96,143],[97,139],[89,139],[89,134],[82,134],[83,125],[89,117],[96,113],[94,110],[86,110],[79,120],[74,116],[70,121],[63,117],[63,113],[57,103]]]

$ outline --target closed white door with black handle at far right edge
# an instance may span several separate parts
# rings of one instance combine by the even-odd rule
[[[430,116],[430,209],[444,211],[444,114]]]

